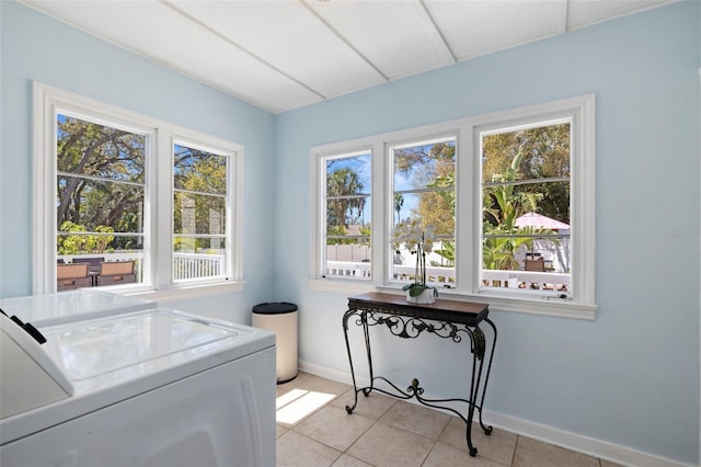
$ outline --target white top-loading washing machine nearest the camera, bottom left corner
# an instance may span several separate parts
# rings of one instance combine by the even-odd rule
[[[44,344],[0,324],[3,467],[275,466],[274,333],[161,308]]]

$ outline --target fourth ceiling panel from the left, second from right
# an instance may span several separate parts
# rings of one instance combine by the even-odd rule
[[[566,0],[425,3],[458,59],[555,35],[566,20]]]

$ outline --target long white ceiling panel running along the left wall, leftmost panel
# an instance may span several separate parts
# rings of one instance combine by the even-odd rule
[[[271,112],[321,100],[160,2],[27,3]]]

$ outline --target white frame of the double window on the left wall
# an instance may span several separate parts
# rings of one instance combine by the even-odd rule
[[[34,82],[34,216],[33,294],[56,291],[56,113],[85,115],[90,121],[147,134],[143,224],[143,276],[139,284],[101,287],[113,293],[169,300],[243,289],[242,200],[243,147],[168,122]],[[227,221],[227,275],[192,281],[172,280],[173,143],[192,143],[230,155]],[[50,265],[47,267],[47,265]]]

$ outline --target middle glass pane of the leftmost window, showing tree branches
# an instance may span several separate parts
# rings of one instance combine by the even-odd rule
[[[59,231],[143,231],[143,186],[60,175],[57,184]]]

